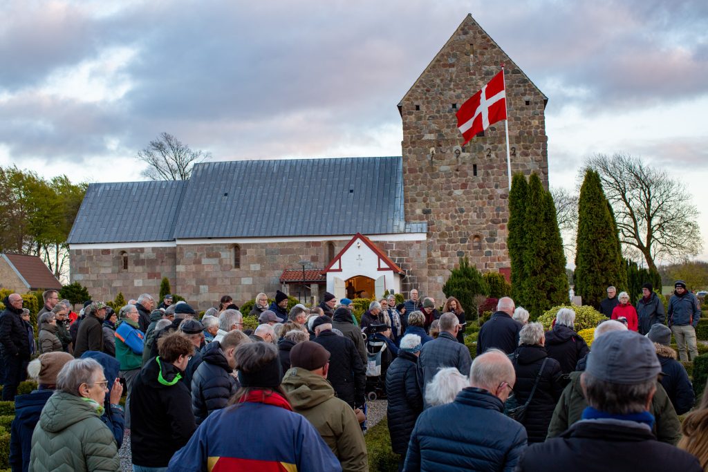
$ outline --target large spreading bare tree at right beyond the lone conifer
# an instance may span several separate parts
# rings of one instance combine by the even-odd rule
[[[656,270],[656,259],[700,252],[697,210],[683,183],[624,154],[598,154],[587,165],[600,173],[620,241],[641,252],[649,269]]]

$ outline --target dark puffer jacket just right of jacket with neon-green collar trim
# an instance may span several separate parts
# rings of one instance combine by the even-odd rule
[[[229,367],[219,341],[209,343],[192,379],[192,411],[197,425],[213,411],[224,408],[236,393],[239,384],[232,372],[234,369]]]

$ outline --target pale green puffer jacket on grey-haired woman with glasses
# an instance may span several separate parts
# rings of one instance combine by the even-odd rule
[[[30,471],[120,472],[113,432],[103,424],[96,402],[54,393],[32,434]]]

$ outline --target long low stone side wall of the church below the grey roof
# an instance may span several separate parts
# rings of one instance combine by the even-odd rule
[[[333,241],[335,254],[347,242]],[[72,282],[84,285],[96,300],[112,300],[118,292],[130,299],[144,292],[156,297],[161,278],[166,276],[173,292],[185,297],[195,309],[215,306],[224,294],[234,297],[240,305],[255,298],[258,292],[273,297],[281,289],[282,271],[299,269],[302,266],[297,262],[303,258],[312,267],[323,269],[329,263],[325,244],[321,241],[241,244],[239,268],[234,268],[233,244],[72,250]],[[425,241],[375,241],[375,244],[406,271],[401,282],[404,292],[415,286],[426,293]],[[122,270],[122,251],[128,253],[128,270]],[[293,295],[297,297],[297,292]]]

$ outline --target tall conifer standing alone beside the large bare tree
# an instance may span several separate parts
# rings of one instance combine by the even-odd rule
[[[583,304],[599,308],[610,285],[626,289],[627,270],[600,175],[588,169],[578,200],[575,293],[583,297]]]

